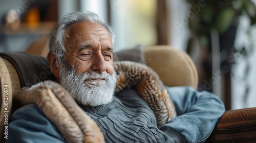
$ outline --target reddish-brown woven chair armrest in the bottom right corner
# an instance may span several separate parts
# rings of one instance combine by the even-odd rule
[[[228,110],[208,142],[253,142],[256,140],[256,107]]]

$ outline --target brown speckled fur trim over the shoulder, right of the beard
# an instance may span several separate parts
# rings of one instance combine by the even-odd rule
[[[114,68],[118,76],[116,91],[135,88],[155,113],[158,127],[177,116],[173,101],[152,68],[131,61],[115,62]]]

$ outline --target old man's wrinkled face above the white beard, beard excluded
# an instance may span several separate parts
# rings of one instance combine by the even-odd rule
[[[66,30],[65,47],[66,63],[74,65],[77,73],[94,70],[113,74],[112,39],[108,30],[99,23],[74,23]]]

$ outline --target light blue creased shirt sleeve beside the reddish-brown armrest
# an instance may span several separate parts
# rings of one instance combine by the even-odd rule
[[[166,87],[175,104],[177,117],[160,127],[179,142],[204,142],[225,112],[221,99],[193,87]],[[176,139],[177,138],[177,139]]]

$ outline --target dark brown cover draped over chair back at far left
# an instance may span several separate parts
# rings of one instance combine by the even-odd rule
[[[0,56],[13,64],[21,87],[31,87],[45,80],[56,81],[45,57],[34,56],[26,52],[5,52],[0,53]]]

